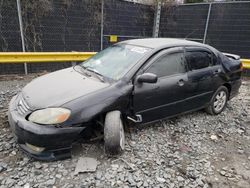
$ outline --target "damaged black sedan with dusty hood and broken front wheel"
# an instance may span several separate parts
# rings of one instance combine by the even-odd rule
[[[241,85],[240,59],[180,39],[117,43],[71,68],[29,83],[9,105],[23,151],[40,160],[70,157],[79,139],[104,134],[105,152],[124,150],[123,125],[205,109],[217,115]]]

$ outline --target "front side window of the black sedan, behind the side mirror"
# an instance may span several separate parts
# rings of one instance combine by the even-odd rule
[[[186,72],[184,54],[182,52],[166,54],[156,60],[146,72],[158,77],[170,76]]]

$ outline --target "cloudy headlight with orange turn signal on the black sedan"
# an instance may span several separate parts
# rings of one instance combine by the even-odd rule
[[[29,116],[29,121],[38,124],[58,124],[65,122],[70,116],[70,110],[65,108],[46,108],[37,110]]]

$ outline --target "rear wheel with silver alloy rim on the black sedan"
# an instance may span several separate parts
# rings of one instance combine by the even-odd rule
[[[211,115],[220,114],[227,105],[228,97],[228,89],[225,86],[220,86],[213,95],[210,104],[205,108],[205,111]]]

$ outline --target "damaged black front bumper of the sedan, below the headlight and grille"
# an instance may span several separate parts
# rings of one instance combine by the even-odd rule
[[[72,143],[78,140],[85,127],[58,128],[27,121],[18,113],[15,100],[16,96],[10,102],[8,120],[20,148],[38,160],[52,161],[69,158]],[[45,149],[37,152],[27,147],[26,143]]]

